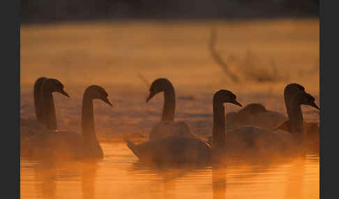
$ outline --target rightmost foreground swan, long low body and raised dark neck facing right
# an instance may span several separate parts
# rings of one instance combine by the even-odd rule
[[[236,148],[248,149],[252,152],[294,152],[294,147],[305,146],[305,134],[301,105],[312,106],[319,109],[315,104],[315,98],[305,90],[300,89],[297,83],[290,83],[285,87],[287,115],[289,118],[289,132],[275,132],[270,129],[258,127],[240,127],[232,129],[227,134],[227,148],[233,153]],[[292,150],[290,150],[291,148]],[[271,152],[268,150],[272,150]]]

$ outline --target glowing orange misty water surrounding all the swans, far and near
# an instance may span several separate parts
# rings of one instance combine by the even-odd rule
[[[241,78],[233,83],[209,54],[211,26],[216,49]],[[98,161],[21,159],[21,198],[319,198],[319,154],[306,159],[277,157],[270,162],[229,159],[227,166],[155,168],[138,161],[122,142],[123,134],[143,139],[160,121],[163,95],[146,104],[148,81],[170,79],[176,90],[175,120],[193,132],[212,132],[212,97],[232,90],[241,104],[264,104],[286,115],[283,89],[301,83],[319,104],[319,22],[93,22],[22,26],[21,116],[34,118],[33,82],[57,78],[70,98],[54,93],[59,129],[80,132],[82,95],[103,86],[114,107],[94,100],[96,133],[105,157]],[[248,51],[255,54],[246,62]],[[253,56],[251,56],[253,57]],[[272,74],[277,81],[257,82],[243,71]],[[225,105],[227,111],[238,106]],[[319,113],[302,106],[307,122]],[[227,118],[226,118],[227,119]]]

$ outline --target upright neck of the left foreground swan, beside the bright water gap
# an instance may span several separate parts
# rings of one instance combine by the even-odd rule
[[[93,99],[84,93],[82,99],[82,136],[84,141],[96,141],[96,130],[94,127]]]

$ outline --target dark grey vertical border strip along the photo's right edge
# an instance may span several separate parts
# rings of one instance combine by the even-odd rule
[[[320,16],[320,198],[338,198],[338,46],[339,1],[321,0]],[[326,125],[325,125],[326,123]],[[326,158],[325,158],[326,157]],[[324,161],[326,159],[326,161]],[[324,162],[326,162],[324,164]]]

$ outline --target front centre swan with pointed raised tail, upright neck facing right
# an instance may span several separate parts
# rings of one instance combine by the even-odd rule
[[[213,96],[213,145],[189,136],[168,136],[136,145],[125,138],[128,148],[140,161],[157,164],[186,164],[213,161],[225,150],[225,107],[224,103],[241,106],[236,95],[229,90],[219,90]]]

